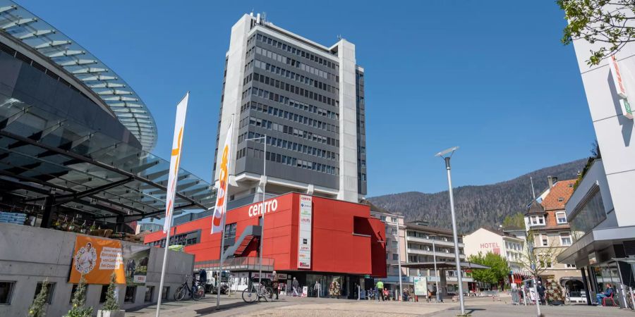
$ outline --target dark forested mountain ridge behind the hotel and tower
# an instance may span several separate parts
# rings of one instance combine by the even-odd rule
[[[524,206],[531,201],[530,176],[538,195],[548,187],[548,175],[560,180],[574,179],[585,163],[586,159],[580,159],[534,170],[513,180],[492,185],[454,188],[459,232],[469,233],[483,225],[495,227],[502,223],[505,216],[526,211]],[[452,228],[447,191],[434,194],[403,192],[371,197],[368,200],[383,209],[404,215],[406,221],[424,219],[436,227]]]

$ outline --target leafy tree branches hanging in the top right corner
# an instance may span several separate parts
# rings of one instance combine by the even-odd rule
[[[564,27],[562,43],[571,44],[584,39],[602,44],[591,49],[586,63],[598,65],[604,58],[615,55],[629,42],[635,41],[635,1],[633,0],[557,0],[569,24]]]

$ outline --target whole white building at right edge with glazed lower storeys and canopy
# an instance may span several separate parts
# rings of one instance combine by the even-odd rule
[[[631,20],[626,23],[635,27]],[[588,299],[602,291],[605,282],[616,285],[618,294],[625,284],[635,286],[635,130],[629,111],[629,102],[635,100],[635,44],[588,66],[589,51],[600,45],[574,41],[601,159],[590,159],[567,202],[574,242],[557,257],[581,269],[587,294],[591,293]]]

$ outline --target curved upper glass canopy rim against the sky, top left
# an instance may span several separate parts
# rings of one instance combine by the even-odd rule
[[[157,125],[138,94],[97,57],[13,1],[0,0],[0,30],[40,52],[83,82],[150,151]]]

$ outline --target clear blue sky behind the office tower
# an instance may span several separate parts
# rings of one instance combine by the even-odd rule
[[[485,185],[581,159],[595,139],[555,1],[71,1],[18,3],[116,71],[155,117],[169,159],[191,92],[181,167],[211,180],[231,26],[251,11],[365,70],[368,197]]]

